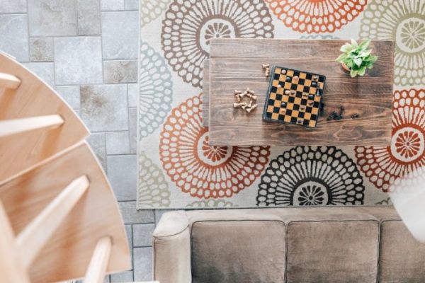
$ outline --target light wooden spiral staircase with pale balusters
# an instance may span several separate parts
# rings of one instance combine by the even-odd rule
[[[131,268],[88,134],[50,86],[0,53],[0,282],[103,282]]]

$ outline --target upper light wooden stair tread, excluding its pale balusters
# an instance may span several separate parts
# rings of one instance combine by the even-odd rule
[[[89,130],[62,98],[38,76],[0,52],[0,72],[21,79],[16,89],[0,88],[0,120],[60,115],[61,127],[35,129],[0,139],[0,184],[84,139]]]

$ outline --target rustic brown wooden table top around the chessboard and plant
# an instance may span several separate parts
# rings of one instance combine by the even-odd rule
[[[211,145],[374,145],[389,146],[392,130],[394,42],[373,40],[378,55],[365,76],[351,78],[335,62],[348,40],[214,39],[204,73],[204,117]],[[323,115],[317,127],[277,124],[262,120],[268,78],[261,64],[309,71],[326,76]],[[205,76],[206,74],[206,76]],[[258,108],[247,113],[233,108],[233,91],[255,91]],[[205,93],[205,90],[208,93]],[[207,102],[208,100],[208,102]],[[209,104],[208,104],[209,103]],[[205,108],[207,106],[208,110]],[[327,120],[344,110],[342,120]],[[358,114],[357,119],[351,115]]]

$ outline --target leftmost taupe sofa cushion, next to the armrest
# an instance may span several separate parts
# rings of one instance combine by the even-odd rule
[[[191,233],[193,283],[284,282],[282,221],[196,221]]]

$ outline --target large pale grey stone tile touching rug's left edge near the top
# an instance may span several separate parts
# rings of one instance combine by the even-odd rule
[[[137,59],[137,11],[102,12],[103,59]]]

